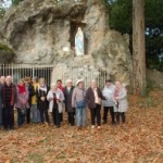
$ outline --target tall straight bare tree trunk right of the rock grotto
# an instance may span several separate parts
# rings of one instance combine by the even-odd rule
[[[146,96],[145,0],[133,0],[134,93]]]

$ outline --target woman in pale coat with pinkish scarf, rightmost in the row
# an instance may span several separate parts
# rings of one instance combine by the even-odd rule
[[[114,102],[115,102],[114,112],[116,115],[116,123],[120,124],[121,117],[122,123],[125,124],[126,122],[125,112],[128,110],[127,90],[121,84],[121,82],[115,82]]]

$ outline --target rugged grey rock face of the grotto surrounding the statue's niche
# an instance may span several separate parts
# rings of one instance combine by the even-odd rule
[[[130,84],[128,38],[109,28],[108,10],[102,0],[25,0],[0,22],[0,39],[12,47],[16,63],[95,66]],[[75,57],[72,46],[78,26],[86,39],[84,57]]]

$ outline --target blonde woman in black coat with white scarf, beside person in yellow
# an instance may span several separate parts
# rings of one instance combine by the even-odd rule
[[[48,115],[49,102],[47,100],[48,91],[49,87],[46,85],[45,78],[40,78],[39,86],[37,87],[36,90],[36,95],[37,95],[38,110],[40,111],[40,120],[41,123],[45,123],[46,117],[46,125],[49,125],[49,115]]]

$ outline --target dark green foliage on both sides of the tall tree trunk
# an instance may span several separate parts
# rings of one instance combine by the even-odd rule
[[[110,27],[122,34],[133,34],[131,0],[110,3]],[[163,71],[163,0],[146,0],[146,60],[148,68]]]

